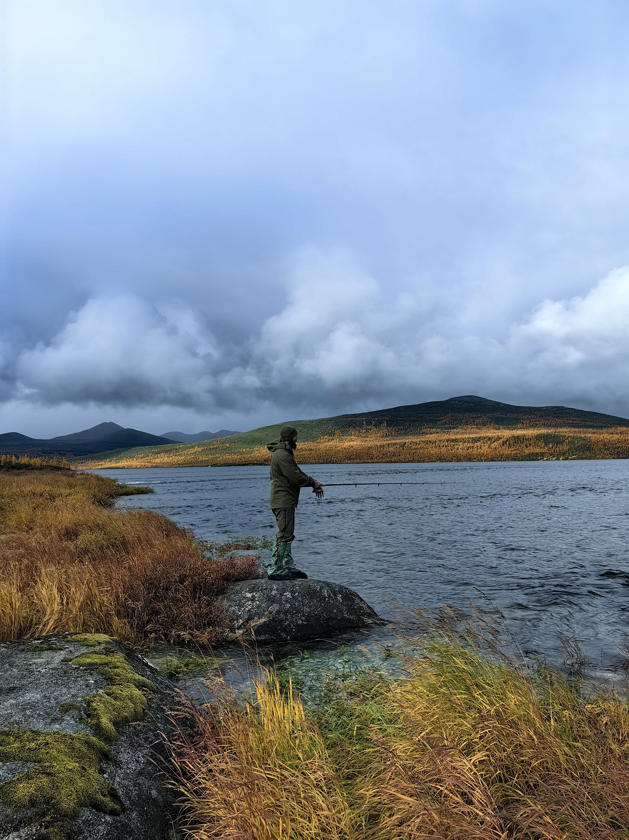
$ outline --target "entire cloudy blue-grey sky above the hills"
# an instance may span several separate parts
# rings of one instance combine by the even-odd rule
[[[0,432],[629,417],[626,0],[9,0]]]

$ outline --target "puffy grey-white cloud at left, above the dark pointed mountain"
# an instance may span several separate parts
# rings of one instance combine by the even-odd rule
[[[134,296],[91,300],[50,344],[21,354],[19,386],[53,405],[194,407],[211,392],[215,354],[190,312],[167,318]]]

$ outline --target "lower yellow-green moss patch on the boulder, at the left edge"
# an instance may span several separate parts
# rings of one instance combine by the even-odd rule
[[[117,790],[101,774],[102,762],[111,758],[104,743],[84,732],[0,732],[0,761],[36,765],[3,782],[0,801],[14,810],[44,807],[38,837],[65,840],[81,808],[120,813]]]

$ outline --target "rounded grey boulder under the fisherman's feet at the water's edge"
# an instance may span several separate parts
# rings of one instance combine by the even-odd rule
[[[327,580],[242,580],[221,601],[231,638],[243,641],[288,642],[385,623],[355,591]]]

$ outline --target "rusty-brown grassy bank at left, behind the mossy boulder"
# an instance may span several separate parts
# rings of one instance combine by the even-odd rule
[[[257,558],[221,559],[228,547],[167,517],[112,507],[148,492],[73,470],[0,470],[0,641],[68,631],[208,643],[226,627],[221,593],[256,576]]]

